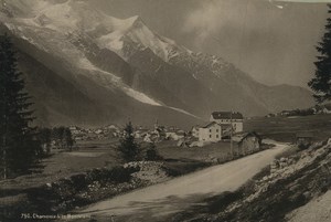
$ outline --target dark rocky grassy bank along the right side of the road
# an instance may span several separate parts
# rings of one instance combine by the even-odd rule
[[[331,188],[331,142],[284,156],[236,192],[207,200],[173,221],[281,222],[295,209],[316,200]],[[196,213],[197,212],[197,213]]]

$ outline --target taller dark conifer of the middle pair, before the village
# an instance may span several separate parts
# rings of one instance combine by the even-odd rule
[[[137,161],[139,160],[139,158],[141,158],[141,149],[139,144],[137,144],[135,140],[134,127],[131,121],[126,125],[124,129],[124,137],[119,142],[120,144],[117,147],[117,150],[125,161]]]

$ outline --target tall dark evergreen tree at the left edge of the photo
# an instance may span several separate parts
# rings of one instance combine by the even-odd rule
[[[13,45],[4,34],[0,36],[0,156],[4,178],[26,172],[41,152],[35,131],[29,126],[33,120],[29,99]]]

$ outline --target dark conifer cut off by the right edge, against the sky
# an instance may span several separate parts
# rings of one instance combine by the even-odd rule
[[[331,13],[331,4],[328,7],[329,13]],[[314,62],[317,67],[314,77],[308,83],[314,92],[313,97],[318,103],[331,99],[331,18],[327,20],[325,30],[322,41],[317,46],[320,55]]]

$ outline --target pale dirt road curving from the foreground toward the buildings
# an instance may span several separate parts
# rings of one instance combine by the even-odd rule
[[[286,147],[278,144],[273,149],[102,201],[75,213],[96,216],[97,221],[162,221],[203,204],[205,198],[236,190]]]

